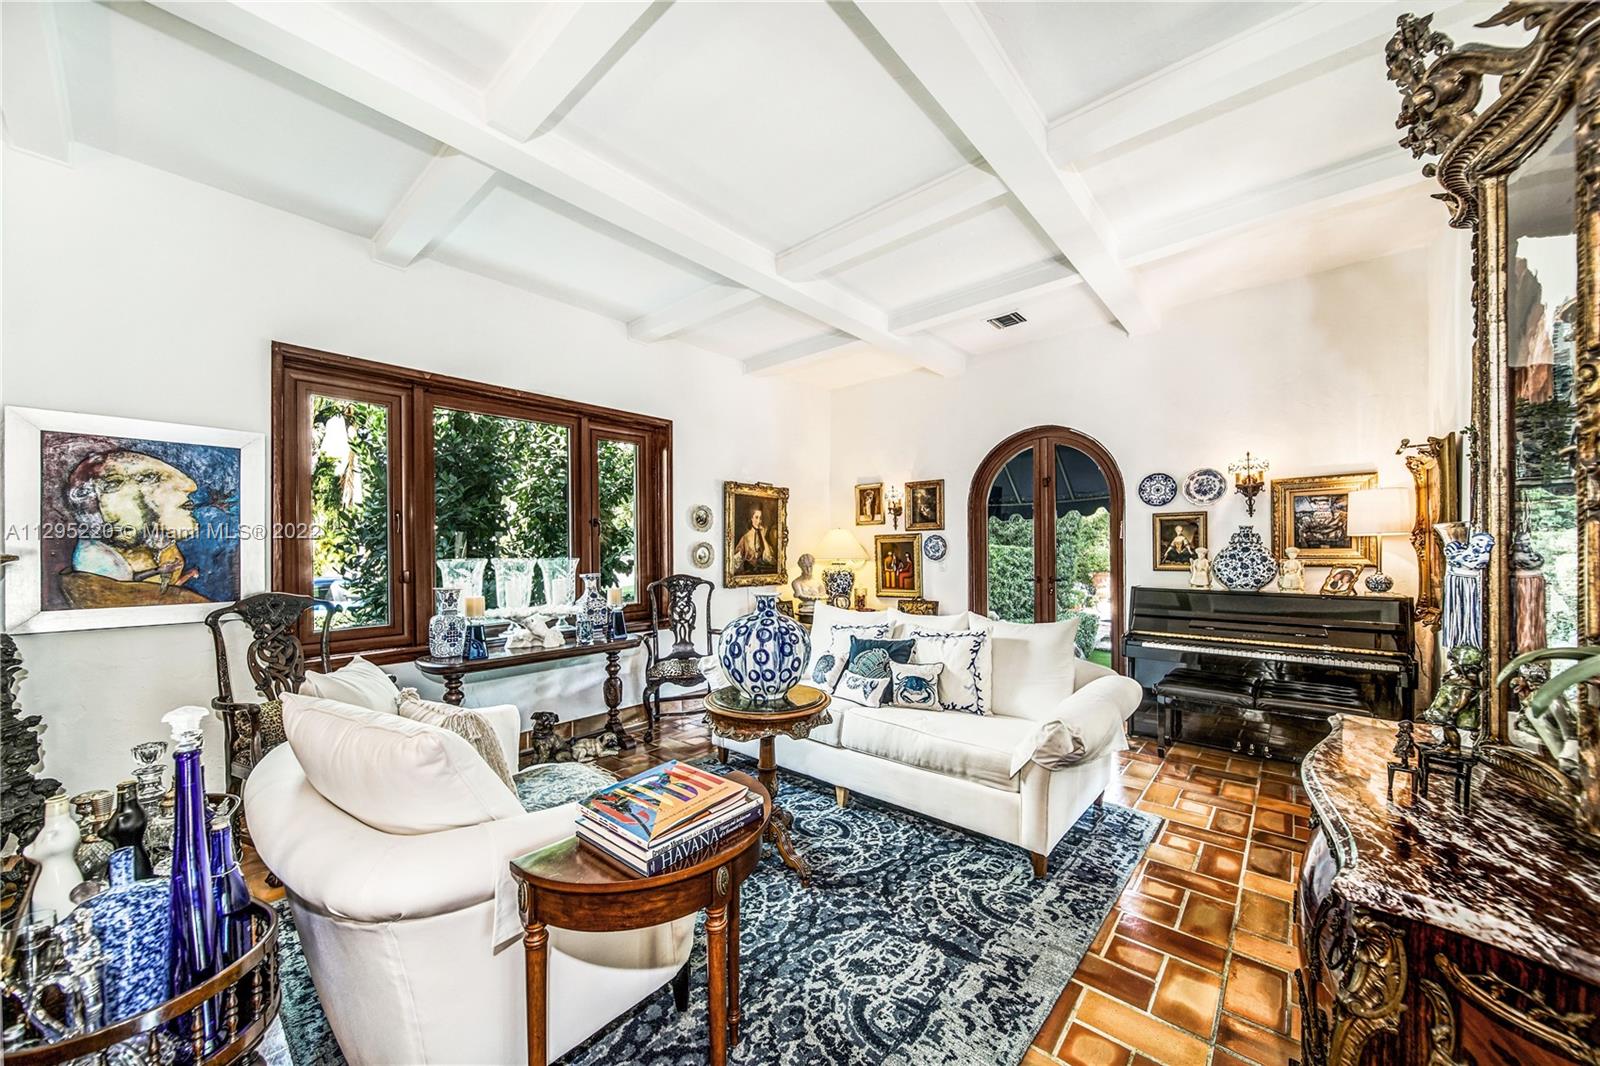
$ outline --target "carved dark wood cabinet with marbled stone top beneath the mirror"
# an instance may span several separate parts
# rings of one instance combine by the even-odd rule
[[[1390,800],[1394,739],[1334,715],[1301,768],[1302,1061],[1600,1066],[1600,855],[1486,765],[1470,813],[1438,778]]]

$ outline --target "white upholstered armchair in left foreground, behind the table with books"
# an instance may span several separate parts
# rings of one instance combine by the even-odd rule
[[[515,767],[517,709],[478,712]],[[286,696],[290,743],[250,775],[245,812],[288,892],[346,1058],[525,1063],[522,927],[507,864],[570,837],[576,805],[525,813],[467,741],[437,727],[390,712],[392,723],[334,720],[336,735],[307,735],[301,714],[301,698]],[[470,778],[466,794],[451,771]],[[325,795],[312,781],[330,773],[338,779]],[[550,928],[550,1058],[670,981],[693,932],[693,917],[637,933]]]

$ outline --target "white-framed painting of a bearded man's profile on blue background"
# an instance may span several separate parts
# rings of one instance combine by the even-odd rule
[[[6,627],[202,621],[266,587],[261,434],[5,410]]]

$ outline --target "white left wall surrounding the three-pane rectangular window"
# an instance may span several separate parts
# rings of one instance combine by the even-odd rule
[[[723,480],[787,485],[795,544],[824,528],[827,419],[787,418],[779,381],[699,349],[634,344],[613,320],[451,267],[378,264],[365,240],[85,146],[75,160],[5,150],[8,405],[266,434],[269,346],[291,341],[674,419],[683,570],[702,536],[722,565]],[[710,535],[688,527],[696,503],[718,514]],[[718,592],[720,619],[747,600]],[[163,712],[216,693],[198,624],[18,645],[22,704],[48,723],[45,771],[70,791],[115,784],[128,746],[165,735]],[[598,666],[507,677],[470,687],[469,703],[576,717],[602,707],[598,679]],[[210,749],[219,767],[219,730]]]

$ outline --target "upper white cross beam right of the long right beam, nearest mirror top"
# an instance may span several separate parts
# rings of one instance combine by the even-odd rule
[[[1435,22],[1466,3],[1438,11]],[[1325,66],[1344,53],[1382,54],[1394,13],[1370,3],[1301,3],[1213,48],[1141,78],[1050,125],[1058,166],[1086,165],[1168,126],[1218,114],[1275,91],[1286,77]]]

